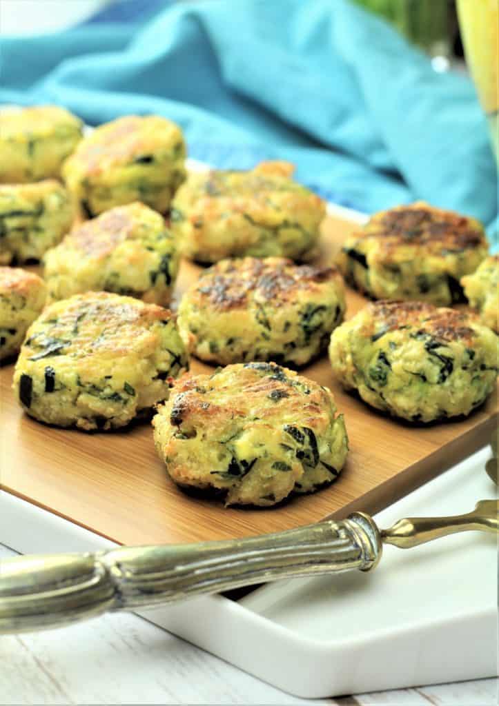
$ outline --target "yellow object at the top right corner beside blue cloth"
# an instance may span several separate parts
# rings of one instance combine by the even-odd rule
[[[457,0],[466,59],[499,161],[499,0]]]

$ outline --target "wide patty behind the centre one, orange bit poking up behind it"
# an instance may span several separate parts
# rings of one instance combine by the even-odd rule
[[[172,202],[184,254],[201,263],[228,257],[310,256],[324,201],[291,179],[293,166],[263,162],[250,172],[189,174]]]

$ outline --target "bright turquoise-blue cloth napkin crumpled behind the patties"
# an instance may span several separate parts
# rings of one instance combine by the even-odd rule
[[[348,0],[149,1],[135,21],[4,38],[0,102],[56,102],[90,124],[158,113],[217,167],[287,159],[337,203],[371,213],[422,198],[497,237],[473,85],[433,71],[382,20]]]

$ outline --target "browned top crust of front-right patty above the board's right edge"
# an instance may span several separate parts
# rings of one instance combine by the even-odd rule
[[[436,307],[421,301],[375,301],[368,304],[372,315],[370,332],[375,328],[397,330],[399,328],[415,328],[421,333],[445,341],[460,341],[471,344],[476,338],[476,332],[470,324],[479,323],[479,318],[473,313]]]

